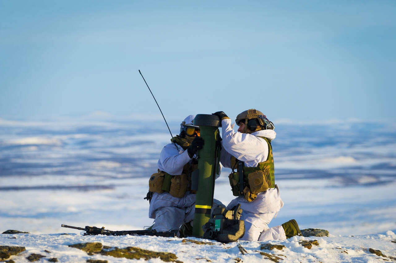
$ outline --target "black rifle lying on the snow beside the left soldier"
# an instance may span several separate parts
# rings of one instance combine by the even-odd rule
[[[90,227],[86,226],[85,228],[82,227],[74,227],[71,225],[61,225],[61,227],[68,227],[78,230],[84,230],[84,236],[90,235],[107,235],[107,236],[125,236],[125,235],[132,235],[132,236],[156,236],[156,237],[177,237],[176,233],[177,230],[173,231],[163,231],[158,232],[155,229],[147,229],[147,230],[122,230],[122,231],[111,231],[105,229],[105,227]]]

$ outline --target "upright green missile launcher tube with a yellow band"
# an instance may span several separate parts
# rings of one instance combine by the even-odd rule
[[[197,114],[194,118],[194,125],[200,127],[200,137],[204,139],[204,147],[197,152],[198,170],[195,173],[199,173],[199,175],[192,235],[202,237],[204,234],[202,226],[210,219],[215,173],[219,167],[218,141],[220,132],[218,127],[221,126],[221,120],[215,115]]]

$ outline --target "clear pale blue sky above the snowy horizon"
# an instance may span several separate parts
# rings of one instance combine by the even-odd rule
[[[0,0],[0,118],[395,121],[395,1]]]

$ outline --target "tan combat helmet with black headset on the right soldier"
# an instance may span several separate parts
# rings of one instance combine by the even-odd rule
[[[238,114],[235,119],[236,125],[239,126],[240,122],[245,124],[245,132],[252,133],[259,130],[274,130],[274,124],[267,119],[267,117],[256,109],[248,109]]]

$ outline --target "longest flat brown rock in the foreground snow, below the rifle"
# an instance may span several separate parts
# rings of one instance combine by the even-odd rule
[[[177,257],[173,253],[168,252],[155,252],[150,250],[145,250],[141,248],[136,248],[132,246],[128,246],[127,248],[112,248],[110,250],[102,250],[100,252],[102,255],[111,255],[112,257],[125,257],[129,259],[151,259],[159,257],[162,261],[165,262],[177,262],[182,263],[179,260],[176,260]]]

